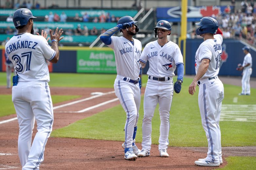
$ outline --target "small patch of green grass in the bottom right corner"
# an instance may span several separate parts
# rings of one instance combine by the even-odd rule
[[[227,157],[227,165],[220,170],[252,170],[256,169],[256,157]]]

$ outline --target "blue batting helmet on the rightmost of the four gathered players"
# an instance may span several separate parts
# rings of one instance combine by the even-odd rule
[[[203,17],[200,23],[196,23],[196,25],[200,26],[196,29],[196,34],[201,35],[205,33],[216,34],[219,24],[216,19],[212,17]]]

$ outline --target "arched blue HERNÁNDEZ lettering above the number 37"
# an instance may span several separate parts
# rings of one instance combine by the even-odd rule
[[[21,49],[21,48],[35,49],[37,44],[38,44],[37,42],[32,42],[32,41],[18,41],[18,42],[12,43],[8,47],[6,47],[5,52],[8,55],[10,55],[10,53],[12,51],[15,51],[15,50]]]

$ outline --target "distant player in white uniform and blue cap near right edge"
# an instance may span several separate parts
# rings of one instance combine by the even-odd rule
[[[252,73],[252,57],[250,54],[250,47],[245,46],[242,48],[245,53],[245,58],[243,65],[238,68],[238,70],[243,70],[243,77],[242,77],[242,93],[239,95],[250,95],[250,76]]]

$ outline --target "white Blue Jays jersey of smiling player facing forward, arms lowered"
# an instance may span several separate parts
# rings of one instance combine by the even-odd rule
[[[179,46],[171,41],[161,47],[157,40],[148,43],[143,49],[140,61],[149,61],[147,74],[156,77],[174,76],[176,65],[183,64]]]

